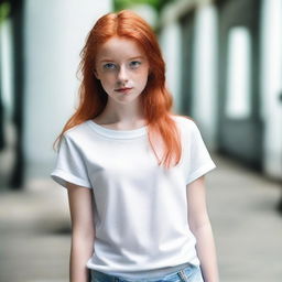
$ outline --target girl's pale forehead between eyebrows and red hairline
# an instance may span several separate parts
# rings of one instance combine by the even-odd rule
[[[106,41],[98,50],[97,59],[105,58],[129,58],[144,56],[142,47],[133,40],[123,37],[111,37]]]

